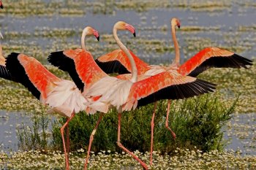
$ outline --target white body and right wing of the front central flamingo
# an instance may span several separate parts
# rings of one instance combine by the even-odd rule
[[[129,111],[161,99],[189,98],[212,92],[214,89],[214,84],[194,77],[182,76],[178,72],[162,72],[138,82],[105,77],[91,86],[86,95],[102,96],[89,107],[96,110],[100,108],[100,112],[108,112],[110,106],[121,111]]]

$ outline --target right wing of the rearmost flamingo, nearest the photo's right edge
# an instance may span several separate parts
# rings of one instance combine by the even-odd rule
[[[179,72],[182,75],[197,77],[198,74],[212,67],[238,68],[252,65],[252,61],[240,55],[217,47],[208,47],[201,50],[195,56],[182,64]]]

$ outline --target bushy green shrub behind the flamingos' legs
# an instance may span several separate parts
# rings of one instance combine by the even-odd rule
[[[237,99],[236,99],[237,101]],[[222,150],[222,126],[230,119],[236,101],[232,106],[226,106],[214,95],[204,95],[186,100],[172,101],[169,125],[176,132],[176,140],[172,139],[165,128],[167,101],[159,101],[155,117],[154,150],[173,152],[176,147],[208,150]],[[121,120],[121,143],[129,150],[150,150],[151,116],[154,104],[123,112]],[[86,115],[84,112],[75,115],[69,123],[71,150],[87,149],[91,131],[96,125],[99,113]],[[62,149],[59,128],[66,121],[65,118],[53,123],[53,146]],[[116,146],[118,115],[111,110],[102,118],[91,150],[120,151]]]

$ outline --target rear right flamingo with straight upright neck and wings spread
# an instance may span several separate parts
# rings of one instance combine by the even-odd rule
[[[173,36],[173,42],[175,47],[175,61],[170,64],[170,66],[149,66],[148,63],[140,60],[131,50],[129,52],[134,58],[136,66],[138,68],[138,75],[140,76],[140,80],[147,78],[149,76],[153,76],[155,74],[159,74],[161,72],[167,72],[169,69],[176,69],[179,74],[189,75],[191,77],[197,77],[198,74],[205,71],[206,69],[210,69],[212,67],[223,68],[241,68],[244,67],[247,69],[246,65],[252,65],[252,61],[241,57],[235,53],[232,53],[227,50],[222,50],[217,47],[207,47],[197,53],[195,56],[190,58],[186,63],[180,66],[180,53],[178,49],[178,41],[176,39],[176,31],[175,27],[180,28],[181,24],[177,18],[173,18],[171,21],[171,34]],[[118,76],[119,79],[128,80],[131,77],[131,74],[127,74],[132,72],[132,66],[129,63],[129,58],[122,50],[114,50],[111,53],[106,55],[102,55],[97,58],[96,62],[99,67],[107,73],[118,72],[121,74]],[[155,104],[156,106],[156,104]],[[154,107],[155,110],[155,107]],[[165,121],[165,127],[169,130],[173,136],[173,139],[176,138],[176,134],[172,131],[172,129],[168,125],[168,117],[170,113],[170,100],[167,101],[167,115]],[[151,121],[151,133],[154,129],[154,112]],[[152,163],[152,151],[153,151],[153,134],[151,134],[151,163]]]

